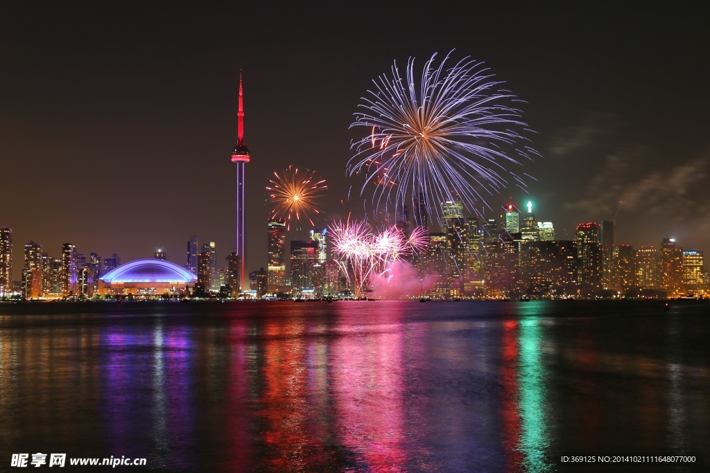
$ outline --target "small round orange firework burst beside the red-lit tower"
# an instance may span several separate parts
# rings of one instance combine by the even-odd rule
[[[269,179],[266,190],[270,192],[273,212],[271,218],[284,218],[286,228],[290,230],[291,223],[300,226],[302,220],[307,220],[315,226],[311,218],[312,213],[320,213],[316,208],[323,196],[323,191],[328,189],[325,179],[318,179],[315,171],[289,166],[280,174],[274,172]]]

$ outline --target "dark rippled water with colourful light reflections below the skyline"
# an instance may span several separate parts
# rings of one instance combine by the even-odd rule
[[[664,304],[0,304],[2,469],[18,452],[186,472],[701,453],[710,304]]]

